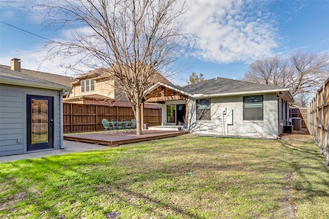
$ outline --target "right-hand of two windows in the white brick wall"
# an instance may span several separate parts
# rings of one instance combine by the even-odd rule
[[[243,120],[263,121],[263,95],[243,97]]]

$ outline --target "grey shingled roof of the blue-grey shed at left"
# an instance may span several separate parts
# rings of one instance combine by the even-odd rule
[[[23,74],[18,71],[13,71],[0,66],[0,82],[1,84],[19,85],[27,87],[45,88],[51,90],[66,90],[69,91],[72,88],[57,83],[49,82],[41,78],[33,77]]]

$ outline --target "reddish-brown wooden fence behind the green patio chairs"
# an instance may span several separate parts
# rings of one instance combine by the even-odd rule
[[[83,105],[63,103],[64,133],[104,130],[102,119],[111,121],[134,118],[131,107],[111,107],[101,105]],[[161,125],[161,109],[144,108],[144,121],[149,126]]]

